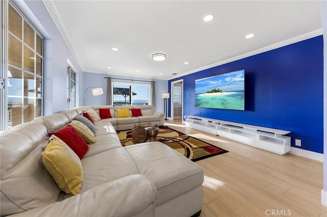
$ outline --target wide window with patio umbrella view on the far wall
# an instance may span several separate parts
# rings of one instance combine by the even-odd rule
[[[114,105],[148,105],[151,104],[151,85],[112,83]],[[132,102],[132,103],[131,103]]]

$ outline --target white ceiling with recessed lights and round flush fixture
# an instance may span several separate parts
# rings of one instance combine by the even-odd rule
[[[84,72],[132,78],[171,79],[322,34],[319,1],[43,3]]]

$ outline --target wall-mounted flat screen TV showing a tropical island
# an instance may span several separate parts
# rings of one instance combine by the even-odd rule
[[[195,106],[244,110],[244,70],[196,79]]]

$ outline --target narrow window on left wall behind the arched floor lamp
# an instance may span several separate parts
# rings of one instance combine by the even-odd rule
[[[71,67],[67,67],[67,108],[68,110],[76,106],[76,72]]]

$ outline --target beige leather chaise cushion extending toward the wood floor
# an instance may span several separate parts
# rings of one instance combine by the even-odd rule
[[[156,206],[191,191],[203,182],[202,169],[165,144],[149,142],[124,148],[133,158],[139,174],[147,176],[156,186]]]

